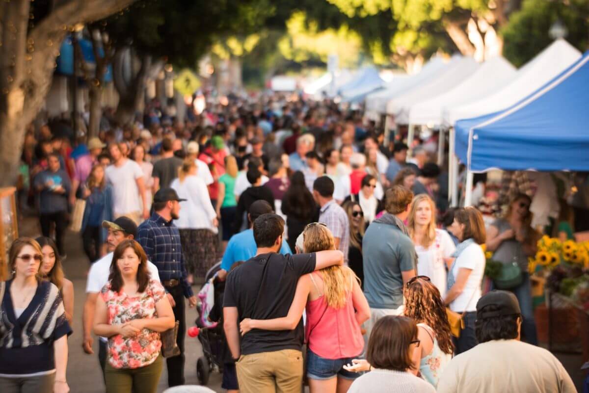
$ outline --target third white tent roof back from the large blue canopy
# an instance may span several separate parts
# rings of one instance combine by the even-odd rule
[[[395,115],[397,124],[408,124],[409,109],[412,105],[452,89],[477,71],[478,67],[479,64],[471,57],[453,56],[450,66],[436,75],[435,79],[391,99],[386,104],[386,113]]]

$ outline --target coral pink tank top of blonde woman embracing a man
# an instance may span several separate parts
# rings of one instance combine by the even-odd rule
[[[311,273],[311,279],[315,285],[320,274]],[[350,275],[350,291],[342,308],[328,306],[325,295],[307,302],[306,341],[311,351],[322,358],[354,358],[362,354],[364,340],[352,302],[352,279]]]

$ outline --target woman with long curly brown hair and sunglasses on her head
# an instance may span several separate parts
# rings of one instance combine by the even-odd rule
[[[421,378],[436,387],[454,352],[444,302],[438,288],[426,276],[410,279],[403,290],[403,297],[404,314],[417,322],[417,336],[421,342],[413,352],[411,372],[415,375],[419,372]],[[354,359],[352,364],[355,371],[370,369],[370,364],[364,359]]]

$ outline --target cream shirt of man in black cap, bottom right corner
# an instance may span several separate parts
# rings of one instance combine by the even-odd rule
[[[438,393],[577,393],[570,375],[544,348],[493,340],[456,355],[438,381]]]

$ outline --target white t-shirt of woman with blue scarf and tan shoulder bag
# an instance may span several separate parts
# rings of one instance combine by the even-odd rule
[[[469,245],[454,261],[452,274],[458,277],[458,269],[471,269],[472,272],[466,280],[464,291],[452,303],[450,309],[456,312],[477,311],[477,302],[481,298],[481,282],[485,273],[485,253],[480,245]]]

